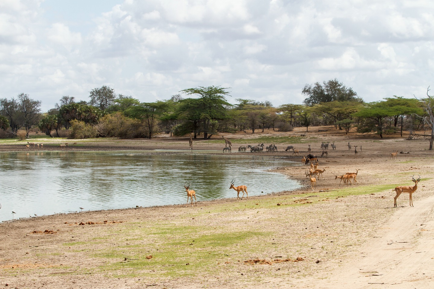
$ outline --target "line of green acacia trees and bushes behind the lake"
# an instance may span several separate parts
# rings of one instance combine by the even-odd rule
[[[434,129],[431,96],[422,99],[387,97],[366,103],[352,88],[337,79],[306,84],[303,104],[273,107],[269,101],[237,99],[230,104],[230,88],[219,86],[187,88],[164,101],[140,102],[103,85],[89,91],[89,101],[63,96],[46,113],[41,102],[28,94],[0,99],[0,128],[3,137],[19,130],[26,136],[39,128],[47,136],[70,138],[121,137],[151,138],[157,133],[209,139],[219,132],[270,129],[291,131],[293,127],[328,126],[360,133],[376,133],[381,138],[403,130]],[[428,90],[429,91],[429,90]],[[187,96],[182,97],[181,94]],[[65,135],[66,133],[66,135]],[[430,140],[432,149],[432,140]]]

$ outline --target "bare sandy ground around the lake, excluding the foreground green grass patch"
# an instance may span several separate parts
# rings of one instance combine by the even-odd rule
[[[323,128],[321,128],[323,129]],[[260,135],[297,136],[305,133],[266,132]],[[224,134],[230,139],[252,138],[251,134]],[[320,168],[326,169],[324,179],[318,180],[317,191],[333,191],[343,187],[335,175],[359,169],[361,190],[388,184],[412,185],[411,176],[421,176],[413,195],[414,207],[409,206],[408,194],[398,198],[393,206],[394,185],[369,194],[320,200],[309,204],[310,182],[303,167],[276,168],[277,172],[298,179],[305,186],[293,192],[251,197],[246,208],[233,209],[230,214],[213,214],[220,208],[237,204],[235,198],[199,201],[197,207],[183,205],[153,208],[130,208],[110,211],[86,211],[72,214],[42,216],[0,223],[0,286],[7,288],[433,288],[434,287],[434,195],[433,153],[427,151],[427,140],[404,140],[398,136],[345,135],[342,131],[319,132],[310,128],[306,134],[312,153],[320,152],[321,142],[335,142],[336,151],[329,149],[328,158],[319,158]],[[44,140],[44,149],[58,149],[59,141]],[[68,140],[69,150],[107,149],[188,149],[185,138],[160,137],[153,140]],[[347,143],[358,146],[358,155],[349,151]],[[248,143],[245,143],[248,144]],[[288,144],[284,144],[289,145]],[[268,144],[267,144],[268,145]],[[282,145],[281,145],[282,146]],[[362,149],[360,150],[360,147]],[[194,149],[222,149],[223,143],[194,141]],[[238,147],[238,144],[233,146]],[[307,143],[296,144],[306,154]],[[409,152],[390,159],[394,150]],[[0,146],[1,151],[25,150],[22,143]],[[263,153],[265,154],[265,153]],[[275,153],[299,160],[292,153]],[[309,186],[309,187],[308,187]],[[234,192],[235,193],[235,192]],[[315,192],[313,192],[315,193]],[[308,195],[306,195],[308,194]],[[198,198],[200,200],[200,198]],[[285,206],[302,201],[306,205]],[[250,202],[250,203],[249,203]],[[265,203],[279,207],[261,207]],[[304,204],[304,203],[303,203]],[[252,208],[250,208],[250,205]],[[234,205],[235,206],[235,205]],[[254,256],[234,251],[228,262],[216,263],[211,273],[194,271],[193,277],[153,279],[151,272],[139,272],[133,277],[98,270],[108,262],[97,258],[89,248],[69,250],[72,242],[85,244],[91,238],[115,234],[145,226],[146,221],[175,223],[186,226],[185,216],[195,216],[192,210],[210,211],[194,220],[200,226],[214,227],[219,234],[240,229],[267,231],[273,241],[259,240],[263,249]],[[278,215],[276,216],[276,210]],[[248,220],[247,220],[248,219]],[[92,225],[78,225],[93,221]],[[246,223],[248,222],[248,226]],[[217,224],[225,224],[218,226]],[[47,230],[45,232],[45,230]],[[53,231],[53,232],[51,232]],[[136,231],[134,231],[136,232]],[[48,233],[48,234],[47,234]],[[49,234],[53,233],[53,234]],[[125,237],[125,236],[122,236]],[[263,243],[261,243],[263,242]],[[113,244],[112,244],[113,243]],[[101,241],[92,251],[113,246],[116,241]],[[122,243],[119,240],[119,243]],[[117,244],[117,243],[116,243]],[[256,244],[256,243],[255,243]],[[269,246],[269,247],[267,247]],[[277,263],[283,254],[299,255],[300,262]],[[231,259],[232,258],[232,259]],[[269,260],[269,264],[246,260]],[[237,264],[231,264],[238,259]],[[125,260],[128,262],[128,260]],[[224,266],[222,266],[224,265]],[[226,267],[225,267],[226,266]],[[107,268],[105,268],[107,269]],[[200,270],[199,270],[200,271]]]

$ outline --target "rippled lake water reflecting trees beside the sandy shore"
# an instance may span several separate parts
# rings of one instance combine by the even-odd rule
[[[80,207],[88,211],[185,205],[185,182],[196,191],[197,201],[236,197],[237,192],[229,189],[232,179],[236,186],[247,186],[249,197],[293,190],[300,187],[298,182],[266,171],[290,164],[296,165],[250,153],[0,153],[0,221],[75,212]]]

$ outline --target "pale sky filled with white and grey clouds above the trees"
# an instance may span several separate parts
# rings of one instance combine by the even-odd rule
[[[276,107],[334,78],[368,102],[424,97],[433,14],[431,0],[1,0],[0,98],[47,111],[103,85],[141,102],[220,86]]]

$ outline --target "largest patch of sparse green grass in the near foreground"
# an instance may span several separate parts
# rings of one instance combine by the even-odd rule
[[[224,231],[220,234],[214,233],[213,227],[179,227],[177,224],[158,224],[141,230],[149,233],[148,241],[96,252],[95,257],[110,260],[99,268],[115,270],[118,277],[194,277],[218,270],[218,263],[227,260],[236,263],[233,256],[239,252],[261,252],[262,246],[256,243],[262,243],[263,237],[271,234],[259,231]],[[147,256],[152,258],[147,259]]]

